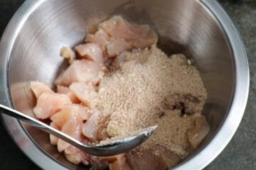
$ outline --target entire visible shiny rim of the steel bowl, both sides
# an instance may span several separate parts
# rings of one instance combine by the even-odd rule
[[[6,30],[2,35],[0,42],[0,103],[5,106],[13,107],[9,95],[8,81],[11,49],[14,46],[16,37],[23,24],[31,13],[33,13],[33,11],[35,11],[36,8],[45,1],[46,0],[26,0],[18,11],[16,11],[13,18],[11,18],[9,25],[6,27]],[[240,125],[249,94],[249,67],[245,47],[242,43],[238,30],[235,28],[228,14],[225,13],[218,1],[201,0],[201,3],[208,8],[210,13],[213,14],[221,28],[223,28],[226,38],[228,39],[230,48],[233,52],[233,60],[235,64],[235,88],[228,114],[226,115],[225,120],[223,120],[223,124],[220,125],[220,128],[217,130],[215,136],[212,137],[208,144],[197,154],[174,167],[174,169],[177,170],[203,169],[205,166],[210,164],[210,162],[212,162],[220,152],[223,151]],[[18,145],[22,152],[35,164],[42,169],[68,169],[64,164],[56,162],[54,159],[49,157],[48,154],[42,152],[43,150],[38,147],[33,140],[31,140],[31,137],[26,133],[26,130],[23,129],[19,120],[3,114],[1,114],[1,117],[6,130],[9,132],[9,135],[12,137],[14,142],[16,142],[16,145]]]

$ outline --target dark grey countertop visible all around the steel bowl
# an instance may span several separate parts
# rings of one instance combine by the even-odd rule
[[[0,0],[0,35],[23,0]],[[245,43],[250,64],[250,96],[240,128],[228,147],[209,165],[211,169],[256,169],[256,1],[220,0]],[[0,123],[0,169],[39,169],[9,137]]]

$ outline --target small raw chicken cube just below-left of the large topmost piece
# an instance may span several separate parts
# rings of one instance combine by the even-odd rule
[[[87,43],[75,47],[75,51],[82,59],[92,60],[104,67],[103,52],[100,45],[95,43]]]

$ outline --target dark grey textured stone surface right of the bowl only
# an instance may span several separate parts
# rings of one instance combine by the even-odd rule
[[[256,1],[222,0],[220,4],[232,18],[245,44],[250,64],[250,94],[238,131],[206,169],[256,169]]]

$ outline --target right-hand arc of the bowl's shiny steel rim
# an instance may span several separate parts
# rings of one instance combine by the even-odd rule
[[[206,146],[196,153],[196,155],[176,166],[176,170],[188,168],[203,169],[218,157],[220,152],[225,149],[235,135],[235,132],[238,130],[245,112],[250,90],[250,70],[245,46],[242,42],[240,33],[237,28],[235,28],[228,13],[225,12],[217,0],[201,0],[201,2],[218,21],[229,42],[235,64],[235,86],[233,89],[233,99],[230,102],[230,108],[228,109],[228,113],[226,114],[222,125],[220,125],[220,128],[218,128],[215,135],[210,139]]]

